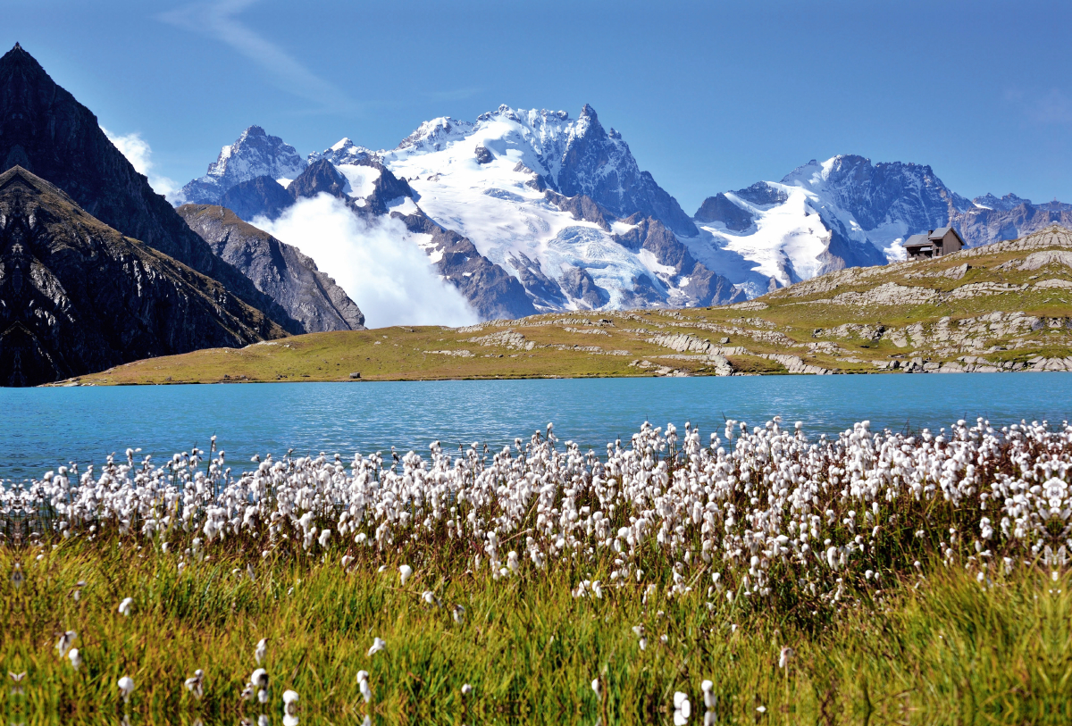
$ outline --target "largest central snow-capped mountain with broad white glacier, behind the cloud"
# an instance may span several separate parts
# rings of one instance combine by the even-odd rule
[[[278,213],[278,170],[239,166],[238,146],[221,154],[238,173],[230,190],[215,187],[217,203],[226,195],[248,218]],[[483,317],[743,299],[679,241],[675,231],[699,230],[591,106],[577,119],[507,106],[475,122],[434,119],[389,151],[344,138],[310,154],[286,192],[327,192],[363,217],[403,220],[408,243]]]

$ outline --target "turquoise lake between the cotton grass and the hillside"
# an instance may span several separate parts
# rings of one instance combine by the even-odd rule
[[[40,478],[77,462],[100,466],[128,447],[162,459],[218,445],[237,469],[250,456],[368,454],[501,448],[554,422],[555,435],[604,451],[645,421],[686,421],[706,442],[726,419],[762,425],[774,415],[808,435],[837,434],[869,420],[939,429],[984,417],[1059,424],[1072,418],[1072,373],[740,378],[604,378],[509,381],[255,383],[119,388],[0,389],[0,478]],[[162,462],[161,462],[162,463]]]

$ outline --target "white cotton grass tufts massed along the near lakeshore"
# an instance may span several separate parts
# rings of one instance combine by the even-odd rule
[[[68,478],[65,468],[49,472],[23,489],[20,506],[44,519],[51,502],[62,500],[66,509],[56,527],[64,538],[92,540],[101,536],[100,523],[117,521],[124,536],[159,551],[164,525],[144,517],[142,502],[196,491],[182,506],[183,526],[168,530],[174,532],[168,560],[183,578],[211,558],[221,541],[234,543],[247,559],[259,554],[270,560],[281,549],[301,547],[306,536],[312,546],[317,534],[330,550],[338,534],[340,546],[352,541],[360,553],[357,560],[343,559],[345,569],[356,561],[370,571],[397,568],[408,588],[419,576],[415,580],[417,573],[394,558],[411,551],[411,543],[452,542],[472,556],[456,563],[461,572],[444,573],[448,579],[522,576],[531,562],[548,574],[577,573],[570,591],[595,606],[636,598],[653,609],[706,580],[708,609],[715,615],[728,603],[777,607],[783,587],[795,591],[791,600],[803,595],[814,603],[814,615],[863,602],[882,608],[883,578],[907,571],[920,579],[927,574],[922,560],[930,558],[939,566],[967,566],[971,575],[982,575],[982,587],[1041,560],[1045,575],[1058,573],[1056,588],[1069,566],[1068,543],[1054,542],[1047,530],[1049,520],[1072,510],[1068,472],[1052,463],[1054,455],[1057,462],[1072,455],[1068,423],[1022,422],[998,429],[980,419],[972,425],[958,421],[936,435],[874,432],[861,422],[809,440],[795,425],[784,429],[776,421],[748,426],[730,420],[725,438],[703,443],[691,425],[680,432],[645,422],[625,443],[611,443],[604,457],[576,442],[556,442],[552,427],[546,437],[538,430],[494,453],[463,445],[455,456],[433,442],[427,455],[356,454],[346,462],[323,454],[288,452],[279,460],[260,455],[240,475],[227,473],[222,451],[200,466],[207,452],[198,450],[160,466],[148,459],[118,466],[103,479],[80,472]],[[1022,470],[1037,472],[1039,481],[1028,484]],[[678,472],[688,473],[680,480]],[[941,474],[936,479],[934,472]],[[551,495],[567,490],[569,496]],[[340,516],[329,514],[325,502]],[[757,521],[766,523],[762,541]],[[952,521],[957,526],[951,532]],[[891,563],[883,553],[897,550],[898,532],[914,534],[923,551]],[[287,542],[295,534],[296,541]],[[642,557],[647,549],[657,557]],[[604,576],[609,559],[613,570],[604,580],[594,579],[596,572]],[[667,562],[665,570],[645,573],[636,566],[659,559]],[[423,560],[418,566],[426,566]],[[775,587],[774,573],[787,568],[794,577]],[[23,565],[12,570],[12,584],[25,585]],[[245,573],[252,581],[251,569]],[[636,589],[626,589],[634,581]],[[84,585],[71,590],[72,599],[85,600]],[[287,596],[297,589],[296,583]],[[429,602],[421,590],[414,594]],[[123,603],[120,612],[133,617],[133,602]],[[438,605],[434,592],[432,603]],[[451,608],[459,625],[463,612]],[[666,632],[659,626],[638,634],[638,645],[654,648],[653,638]],[[65,659],[76,636],[57,637],[57,653]],[[257,665],[264,662],[262,656]]]

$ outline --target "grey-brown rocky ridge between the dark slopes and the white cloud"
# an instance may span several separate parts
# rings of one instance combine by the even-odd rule
[[[212,252],[271,296],[307,333],[363,330],[364,315],[336,282],[297,247],[242,222],[234,212],[210,205],[177,210]]]

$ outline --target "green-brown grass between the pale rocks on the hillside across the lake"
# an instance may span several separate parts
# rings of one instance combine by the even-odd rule
[[[1008,246],[1008,245],[1006,245]],[[1072,309],[1068,288],[1032,288],[1001,294],[942,299],[926,304],[843,305],[828,302],[845,292],[866,292],[893,283],[949,292],[976,283],[1032,285],[1049,278],[1072,279],[1072,270],[1051,263],[1039,270],[1001,268],[1030,251],[1008,251],[994,245],[986,254],[968,251],[888,268],[843,271],[828,277],[837,287],[801,294],[809,288],[794,286],[769,293],[757,301],[760,311],[733,306],[682,311],[605,312],[582,311],[534,316],[517,321],[486,323],[477,332],[441,327],[394,327],[357,332],[314,333],[255,345],[242,349],[218,348],[184,356],[172,356],[129,363],[103,373],[84,376],[79,384],[183,383],[224,381],[344,381],[352,373],[361,380],[433,380],[448,378],[532,378],[584,376],[655,375],[660,367],[688,375],[711,375],[706,361],[683,359],[678,351],[649,343],[654,335],[687,334],[718,345],[729,337],[729,346],[744,347],[754,354],[731,356],[742,374],[777,373],[781,368],[758,358],[765,353],[790,353],[807,363],[845,373],[874,373],[872,361],[887,362],[894,356],[925,357],[930,361],[952,361],[964,354],[989,353],[994,346],[1012,345],[998,333],[977,342],[979,350],[951,350],[949,345],[898,348],[890,338],[878,343],[860,337],[837,337],[832,329],[845,323],[882,323],[888,329],[922,323],[928,330],[943,317],[954,321],[978,318],[995,312],[1023,312],[1039,318],[1067,322]],[[961,279],[939,273],[967,261],[971,269]],[[803,283],[812,285],[816,281]],[[823,282],[819,278],[818,282]],[[587,322],[578,322],[587,320]],[[606,322],[600,323],[600,320]],[[823,332],[816,334],[821,329]],[[474,342],[496,332],[522,334],[530,349]],[[606,334],[584,334],[579,330],[601,330]],[[772,338],[771,334],[781,337]],[[1068,326],[1021,334],[1014,352],[994,351],[1001,360],[1017,361],[1036,354],[1063,358],[1072,353],[1072,332]],[[838,356],[812,351],[809,344],[835,344]],[[598,350],[583,350],[595,347]],[[956,348],[956,346],[952,346]],[[446,356],[432,351],[467,350],[471,357]],[[624,351],[625,354],[610,354]],[[853,363],[846,359],[859,359]],[[654,365],[630,365],[649,360]]]

